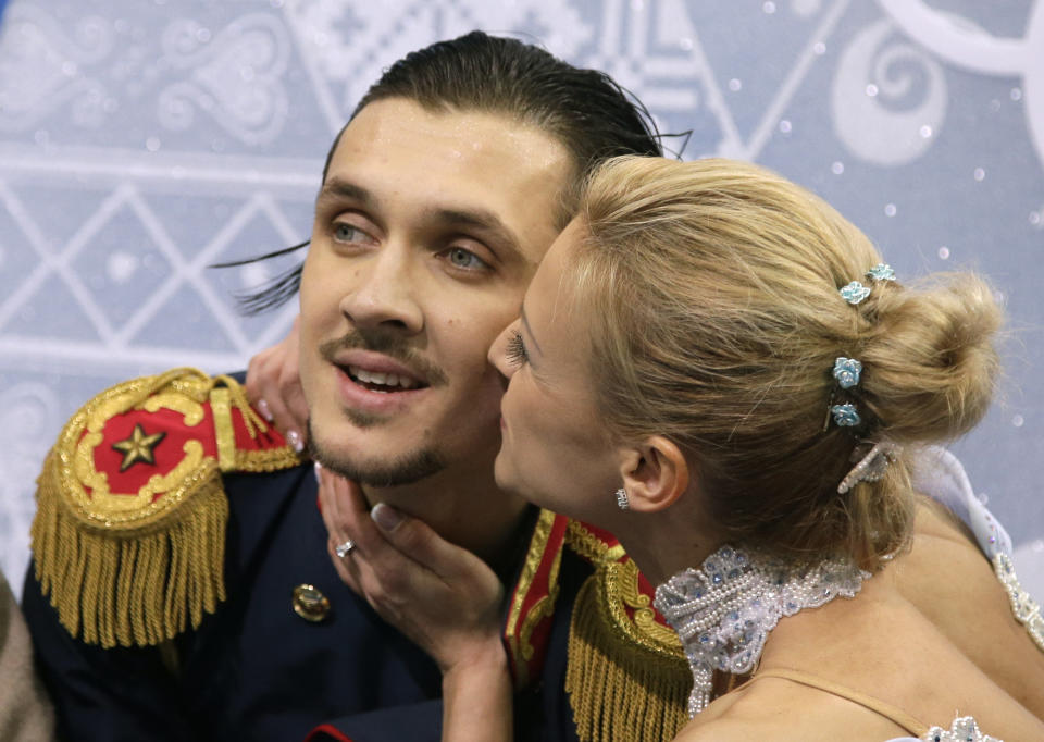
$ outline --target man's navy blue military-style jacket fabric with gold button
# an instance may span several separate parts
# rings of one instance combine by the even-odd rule
[[[225,491],[227,598],[175,640],[176,652],[102,650],[73,639],[30,567],[23,608],[60,733],[108,742],[284,741],[326,724],[343,734],[330,739],[437,740],[438,668],[340,582],[311,467],[226,475]],[[575,739],[563,691],[566,640],[570,601],[589,572],[563,553],[548,661],[517,701],[520,739]],[[327,596],[326,620],[295,614],[291,594],[301,583]]]

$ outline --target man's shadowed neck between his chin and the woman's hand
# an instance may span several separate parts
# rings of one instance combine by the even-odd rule
[[[492,462],[447,467],[401,486],[364,486],[363,494],[370,505],[386,503],[420,518],[450,543],[497,566],[512,546],[527,503],[497,489]]]

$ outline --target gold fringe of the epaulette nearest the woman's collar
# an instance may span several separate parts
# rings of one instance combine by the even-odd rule
[[[569,632],[566,691],[582,742],[659,742],[688,721],[684,657],[636,645],[616,627],[598,576],[581,588]]]

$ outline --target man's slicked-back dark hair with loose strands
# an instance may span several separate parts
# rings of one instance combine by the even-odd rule
[[[580,186],[596,164],[618,154],[662,154],[648,110],[609,75],[574,67],[539,47],[480,30],[412,51],[393,64],[362,97],[348,123],[370,103],[389,98],[412,100],[428,111],[500,114],[558,139],[573,161],[570,185],[561,194],[560,228],[572,218]],[[324,182],[344,132],[326,154]],[[224,265],[264,260],[306,245]],[[276,276],[243,298],[245,310],[253,314],[284,304],[297,293],[300,276],[300,265]]]

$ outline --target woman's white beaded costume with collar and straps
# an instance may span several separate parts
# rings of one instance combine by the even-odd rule
[[[1005,586],[1016,619],[1044,650],[1041,608],[1015,574],[1011,541],[974,496],[960,462],[945,449],[930,448],[921,454],[917,466],[915,486],[968,524]],[[850,557],[795,561],[756,548],[725,545],[699,567],[682,570],[659,585],[654,605],[678,632],[694,678],[689,716],[701,713],[712,700],[716,671],[754,671],[747,685],[765,678],[807,685],[863,706],[912,734],[888,742],[1000,742],[982,732],[970,716],[955,719],[948,729],[930,727],[891,703],[801,670],[756,671],[768,634],[780,618],[838,597],[855,597],[862,582],[871,578]]]

